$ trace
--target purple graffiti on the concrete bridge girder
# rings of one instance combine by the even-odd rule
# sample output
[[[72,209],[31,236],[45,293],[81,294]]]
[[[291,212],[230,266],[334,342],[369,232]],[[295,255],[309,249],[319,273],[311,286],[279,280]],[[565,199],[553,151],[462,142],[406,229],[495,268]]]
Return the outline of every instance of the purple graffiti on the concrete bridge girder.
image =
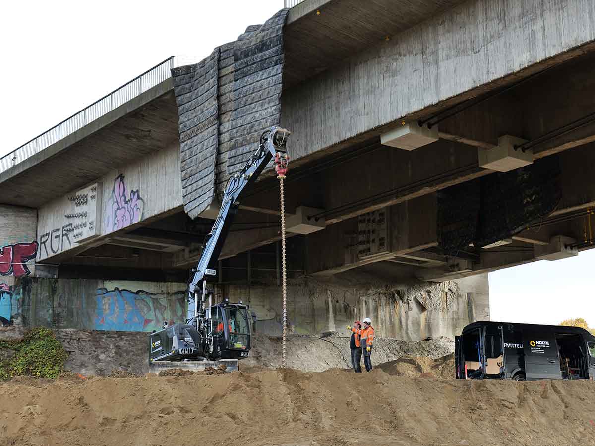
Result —
[[[139,222],[143,218],[144,209],[145,202],[140,197],[139,190],[131,190],[130,197],[127,197],[124,175],[118,175],[108,203],[108,230],[117,231]]]

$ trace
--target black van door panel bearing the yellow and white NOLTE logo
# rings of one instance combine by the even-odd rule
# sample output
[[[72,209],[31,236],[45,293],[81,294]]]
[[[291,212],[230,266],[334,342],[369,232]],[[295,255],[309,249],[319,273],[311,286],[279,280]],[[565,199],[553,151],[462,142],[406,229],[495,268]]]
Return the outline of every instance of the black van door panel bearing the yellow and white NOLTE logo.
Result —
[[[562,379],[558,344],[553,333],[523,331],[527,379]]]

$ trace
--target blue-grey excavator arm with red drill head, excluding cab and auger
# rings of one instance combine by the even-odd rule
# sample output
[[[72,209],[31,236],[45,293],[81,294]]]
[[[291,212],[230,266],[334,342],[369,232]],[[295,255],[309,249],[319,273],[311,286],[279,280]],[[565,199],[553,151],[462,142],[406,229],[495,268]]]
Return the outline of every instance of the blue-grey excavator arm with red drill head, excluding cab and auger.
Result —
[[[271,159],[275,159],[277,175],[284,175],[287,170],[286,142],[290,132],[280,127],[271,127],[261,135],[260,144],[241,171],[236,172],[227,181],[227,186],[221,201],[221,209],[211,232],[206,235],[201,259],[198,261],[194,275],[189,282],[188,292],[190,299],[198,303],[198,293],[201,290],[204,300],[205,276],[216,275],[217,260],[223,249],[223,244],[240,205],[243,191],[254,183]],[[196,315],[196,312],[195,312]]]

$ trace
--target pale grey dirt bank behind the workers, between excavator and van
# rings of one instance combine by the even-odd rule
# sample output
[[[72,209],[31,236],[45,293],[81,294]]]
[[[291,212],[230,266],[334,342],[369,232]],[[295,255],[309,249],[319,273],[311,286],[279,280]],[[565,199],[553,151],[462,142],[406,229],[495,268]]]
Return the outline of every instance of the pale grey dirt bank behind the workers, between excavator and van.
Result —
[[[372,362],[380,364],[403,356],[436,359],[454,350],[455,343],[449,338],[419,342],[380,338],[374,343]],[[246,371],[280,366],[281,338],[267,336],[255,336],[249,359],[242,360],[240,363],[240,369]],[[292,335],[287,338],[287,366],[302,372],[350,368],[349,338],[337,332],[327,332],[320,337]]]

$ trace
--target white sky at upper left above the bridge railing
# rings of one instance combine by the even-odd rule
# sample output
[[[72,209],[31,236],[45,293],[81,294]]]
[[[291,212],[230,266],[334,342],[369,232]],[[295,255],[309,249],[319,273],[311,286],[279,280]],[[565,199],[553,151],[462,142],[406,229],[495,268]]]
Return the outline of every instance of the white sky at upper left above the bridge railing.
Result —
[[[0,14],[0,155],[172,55],[202,59],[283,0],[10,1]]]

